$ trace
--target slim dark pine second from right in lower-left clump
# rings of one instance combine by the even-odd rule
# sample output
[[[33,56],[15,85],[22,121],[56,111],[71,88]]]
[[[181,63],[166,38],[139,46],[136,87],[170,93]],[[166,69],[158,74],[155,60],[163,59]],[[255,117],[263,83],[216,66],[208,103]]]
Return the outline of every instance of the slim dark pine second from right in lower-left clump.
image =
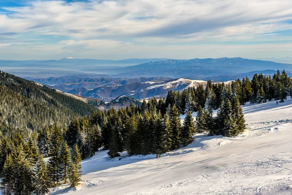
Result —
[[[61,153],[60,153],[60,161],[61,161],[61,166],[63,170],[63,180],[64,183],[68,183],[68,176],[70,174],[70,168],[72,166],[71,163],[71,152],[69,150],[67,141],[63,142],[62,147],[61,147]]]

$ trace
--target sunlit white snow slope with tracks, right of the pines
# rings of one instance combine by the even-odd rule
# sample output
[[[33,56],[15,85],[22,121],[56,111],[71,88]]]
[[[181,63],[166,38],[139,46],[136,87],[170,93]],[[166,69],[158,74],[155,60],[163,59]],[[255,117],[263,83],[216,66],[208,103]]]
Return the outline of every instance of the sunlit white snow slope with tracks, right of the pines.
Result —
[[[82,162],[77,191],[62,185],[51,194],[291,195],[292,99],[247,104],[243,111],[247,130],[237,137],[196,134],[192,144],[160,158],[109,159],[100,151]]]

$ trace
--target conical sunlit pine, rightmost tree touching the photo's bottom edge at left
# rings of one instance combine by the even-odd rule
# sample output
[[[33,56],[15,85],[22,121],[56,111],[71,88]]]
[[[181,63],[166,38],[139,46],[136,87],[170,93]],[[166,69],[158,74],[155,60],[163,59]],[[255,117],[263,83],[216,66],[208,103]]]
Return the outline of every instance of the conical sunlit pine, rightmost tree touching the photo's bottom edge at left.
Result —
[[[37,164],[37,176],[36,176],[36,195],[45,195],[50,191],[51,179],[49,177],[49,171],[43,159],[43,155],[40,154],[39,162]]]

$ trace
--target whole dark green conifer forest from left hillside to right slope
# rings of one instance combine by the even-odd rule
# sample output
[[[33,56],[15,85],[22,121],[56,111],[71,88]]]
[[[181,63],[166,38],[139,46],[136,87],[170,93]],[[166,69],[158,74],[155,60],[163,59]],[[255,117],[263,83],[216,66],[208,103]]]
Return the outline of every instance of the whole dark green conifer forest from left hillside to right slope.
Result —
[[[229,84],[209,80],[206,87],[169,91],[166,98],[145,100],[141,106],[131,104],[102,111],[3,72],[0,81],[1,91],[10,97],[1,98],[0,107],[4,113],[0,116],[1,189],[4,194],[15,195],[42,195],[63,183],[76,187],[81,179],[81,159],[93,156],[99,149],[108,149],[110,157],[125,150],[129,155],[152,153],[159,157],[191,143],[196,132],[236,136],[245,130],[241,105],[272,99],[283,102],[292,95],[292,79],[285,71],[278,71],[273,76],[259,74],[251,80],[237,79]],[[13,95],[31,104],[15,99],[20,106],[14,101],[7,106]],[[73,104],[75,101],[78,102]],[[34,108],[41,105],[59,115],[46,115],[50,122],[37,120],[43,108]],[[217,116],[213,116],[213,110],[218,110]],[[10,126],[17,120],[8,122],[7,112],[15,118],[21,114],[35,118],[34,128],[27,126],[28,119],[19,119],[21,124]],[[197,112],[196,120],[192,112]],[[186,114],[183,124],[181,114]],[[48,163],[43,157],[49,157]]]

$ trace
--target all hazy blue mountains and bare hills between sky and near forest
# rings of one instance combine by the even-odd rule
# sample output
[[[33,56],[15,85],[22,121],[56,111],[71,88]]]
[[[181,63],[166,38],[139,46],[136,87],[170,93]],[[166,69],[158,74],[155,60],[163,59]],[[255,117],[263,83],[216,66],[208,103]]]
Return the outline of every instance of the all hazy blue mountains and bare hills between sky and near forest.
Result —
[[[289,58],[286,58],[289,59]],[[0,60],[0,69],[75,95],[110,101],[120,96],[136,99],[164,97],[208,79],[215,82],[273,75],[292,64],[272,61],[219,59],[73,59]],[[197,84],[196,84],[197,83]]]

